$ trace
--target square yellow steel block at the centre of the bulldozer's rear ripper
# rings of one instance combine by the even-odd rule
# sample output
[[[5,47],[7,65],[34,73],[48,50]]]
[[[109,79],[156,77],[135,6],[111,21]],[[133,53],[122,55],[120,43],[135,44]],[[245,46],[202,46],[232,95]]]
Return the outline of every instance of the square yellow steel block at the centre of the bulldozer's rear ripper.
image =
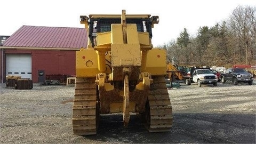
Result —
[[[141,66],[140,44],[111,44],[112,67]]]

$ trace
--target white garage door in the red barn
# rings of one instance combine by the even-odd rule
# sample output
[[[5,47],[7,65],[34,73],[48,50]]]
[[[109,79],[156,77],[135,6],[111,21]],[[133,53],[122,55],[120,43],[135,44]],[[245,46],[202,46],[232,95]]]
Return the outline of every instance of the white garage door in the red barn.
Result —
[[[31,54],[7,54],[6,75],[32,79],[31,70]]]

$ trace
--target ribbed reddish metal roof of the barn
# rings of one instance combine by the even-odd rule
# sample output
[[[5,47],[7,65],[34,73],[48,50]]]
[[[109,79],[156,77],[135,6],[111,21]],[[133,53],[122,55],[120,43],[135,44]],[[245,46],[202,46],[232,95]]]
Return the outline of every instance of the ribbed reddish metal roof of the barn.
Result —
[[[4,43],[6,47],[86,47],[85,28],[22,26]]]

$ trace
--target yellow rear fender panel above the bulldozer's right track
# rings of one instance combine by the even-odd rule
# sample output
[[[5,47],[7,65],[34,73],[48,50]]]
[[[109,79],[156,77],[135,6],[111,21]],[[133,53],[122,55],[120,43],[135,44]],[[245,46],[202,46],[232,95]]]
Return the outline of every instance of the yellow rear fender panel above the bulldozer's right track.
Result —
[[[151,75],[166,75],[166,52],[163,49],[148,51],[146,72]]]

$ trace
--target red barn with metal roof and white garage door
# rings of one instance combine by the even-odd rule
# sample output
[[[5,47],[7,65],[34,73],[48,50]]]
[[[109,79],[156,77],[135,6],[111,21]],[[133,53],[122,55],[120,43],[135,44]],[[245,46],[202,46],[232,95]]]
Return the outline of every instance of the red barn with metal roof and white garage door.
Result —
[[[0,46],[1,83],[7,75],[44,82],[75,75],[76,51],[87,45],[85,28],[22,26]]]

